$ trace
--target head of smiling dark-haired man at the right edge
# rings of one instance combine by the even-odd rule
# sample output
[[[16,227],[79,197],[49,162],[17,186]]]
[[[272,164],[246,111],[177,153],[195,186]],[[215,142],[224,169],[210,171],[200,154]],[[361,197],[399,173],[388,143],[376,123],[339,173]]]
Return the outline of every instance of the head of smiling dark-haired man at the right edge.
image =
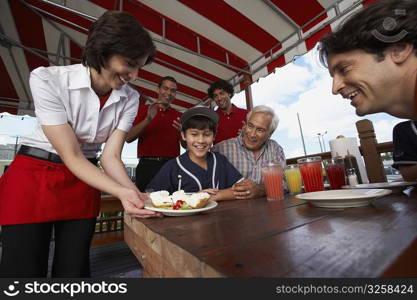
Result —
[[[320,41],[333,93],[356,114],[386,112],[417,120],[417,1],[380,0]]]

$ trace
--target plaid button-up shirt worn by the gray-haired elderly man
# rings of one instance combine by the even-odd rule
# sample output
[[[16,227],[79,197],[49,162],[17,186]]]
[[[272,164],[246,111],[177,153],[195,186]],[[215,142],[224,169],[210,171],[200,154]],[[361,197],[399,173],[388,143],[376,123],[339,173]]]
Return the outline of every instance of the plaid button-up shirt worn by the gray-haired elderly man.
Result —
[[[255,159],[253,152],[244,145],[242,134],[237,138],[214,145],[212,150],[226,156],[244,178],[251,179],[256,183],[263,183],[261,174],[263,163],[268,161],[282,162],[285,167],[284,151],[277,142],[271,139],[268,139],[262,146],[257,159]]]

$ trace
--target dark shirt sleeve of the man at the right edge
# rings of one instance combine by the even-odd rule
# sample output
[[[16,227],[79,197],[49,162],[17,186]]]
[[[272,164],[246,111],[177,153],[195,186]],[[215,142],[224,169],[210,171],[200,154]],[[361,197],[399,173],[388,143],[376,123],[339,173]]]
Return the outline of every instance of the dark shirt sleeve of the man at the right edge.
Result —
[[[393,129],[394,168],[417,165],[417,121],[405,121]]]

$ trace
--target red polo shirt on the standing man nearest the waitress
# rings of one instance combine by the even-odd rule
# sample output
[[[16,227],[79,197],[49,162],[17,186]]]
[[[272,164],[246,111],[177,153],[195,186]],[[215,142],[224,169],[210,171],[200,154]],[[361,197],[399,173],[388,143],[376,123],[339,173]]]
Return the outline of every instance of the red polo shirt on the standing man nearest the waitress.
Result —
[[[148,114],[149,105],[141,105],[133,125],[139,124]],[[158,108],[152,121],[138,139],[138,157],[176,157],[180,155],[181,133],[172,126],[181,113],[168,107]]]

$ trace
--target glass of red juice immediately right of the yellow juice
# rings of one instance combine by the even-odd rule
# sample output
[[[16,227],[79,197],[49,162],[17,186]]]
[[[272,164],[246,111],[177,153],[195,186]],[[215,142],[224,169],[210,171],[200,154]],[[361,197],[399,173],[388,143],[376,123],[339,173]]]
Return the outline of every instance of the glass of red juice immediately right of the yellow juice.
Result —
[[[317,192],[324,190],[323,173],[321,171],[321,157],[313,156],[297,159],[304,182],[304,191]]]

